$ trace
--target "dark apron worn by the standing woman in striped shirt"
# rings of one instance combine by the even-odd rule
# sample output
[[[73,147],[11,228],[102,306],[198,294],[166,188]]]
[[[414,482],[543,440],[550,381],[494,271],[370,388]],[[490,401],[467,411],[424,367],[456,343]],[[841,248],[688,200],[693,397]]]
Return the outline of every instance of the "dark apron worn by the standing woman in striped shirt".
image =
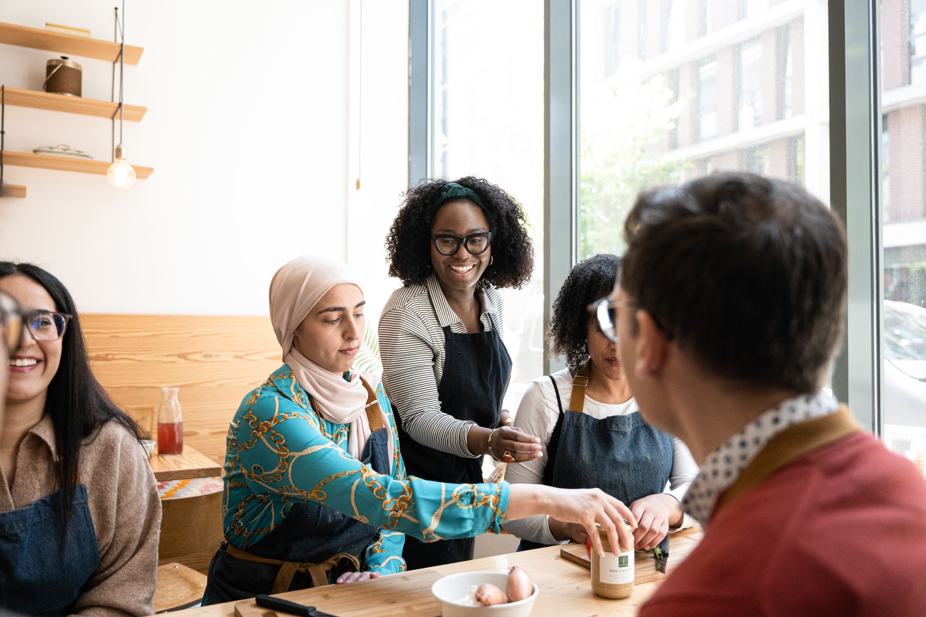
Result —
[[[474,334],[457,334],[444,327],[444,350],[444,375],[437,387],[441,411],[485,428],[498,426],[511,356],[494,322],[491,330]],[[408,475],[451,484],[482,482],[482,456],[470,459],[429,448],[411,438],[401,423],[399,439]],[[418,570],[471,560],[474,548],[472,537],[422,542],[406,536],[402,557],[408,570]]]

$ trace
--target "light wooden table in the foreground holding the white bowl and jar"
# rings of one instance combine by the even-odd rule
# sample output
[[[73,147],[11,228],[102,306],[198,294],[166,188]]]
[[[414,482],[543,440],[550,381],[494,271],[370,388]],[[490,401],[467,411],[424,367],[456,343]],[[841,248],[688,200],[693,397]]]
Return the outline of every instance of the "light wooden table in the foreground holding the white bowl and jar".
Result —
[[[696,541],[700,532],[688,532],[684,537],[686,540]],[[681,560],[670,559],[669,569],[678,565],[679,561]],[[560,547],[548,547],[461,561],[405,574],[391,574],[347,586],[290,591],[281,594],[281,597],[295,602],[316,604],[319,611],[330,611],[340,617],[437,617],[440,615],[440,609],[432,598],[431,585],[439,576],[474,570],[507,572],[513,565],[520,566],[531,574],[540,589],[532,617],[632,617],[662,584],[661,578],[641,583],[634,587],[630,598],[598,598],[592,593],[589,571],[562,559]],[[349,601],[345,601],[347,598],[344,592],[348,590],[350,598]],[[174,614],[178,617],[234,617],[235,604],[236,602],[226,602]]]

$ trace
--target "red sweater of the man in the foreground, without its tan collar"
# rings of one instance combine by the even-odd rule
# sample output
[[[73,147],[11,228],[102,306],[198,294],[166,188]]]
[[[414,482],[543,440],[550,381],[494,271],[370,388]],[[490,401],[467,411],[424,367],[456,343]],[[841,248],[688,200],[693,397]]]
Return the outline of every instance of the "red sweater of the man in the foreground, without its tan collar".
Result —
[[[640,617],[926,615],[926,481],[861,431],[715,512]]]

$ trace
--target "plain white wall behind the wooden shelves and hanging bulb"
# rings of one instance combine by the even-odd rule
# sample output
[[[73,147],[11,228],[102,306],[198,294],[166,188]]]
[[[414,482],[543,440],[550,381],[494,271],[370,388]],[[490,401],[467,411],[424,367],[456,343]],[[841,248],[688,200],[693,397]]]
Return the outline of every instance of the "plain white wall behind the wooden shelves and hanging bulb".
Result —
[[[0,21],[68,24],[111,40],[113,6],[7,2]],[[0,258],[44,265],[85,312],[263,315],[273,272],[315,251],[349,252],[367,278],[382,277],[375,249],[406,184],[407,2],[364,11],[364,86],[379,88],[364,93],[365,184],[378,187],[366,201],[353,189],[356,7],[352,20],[346,0],[130,0],[126,41],[144,55],[125,67],[125,102],[148,112],[125,123],[123,141],[129,161],[154,174],[117,191],[103,176],[7,166],[6,182],[29,196],[0,200]],[[0,81],[41,90],[52,57],[0,44]],[[108,100],[112,65],[74,59],[83,95]],[[108,161],[110,123],[6,106],[7,150],[59,142]],[[345,241],[348,207],[349,220],[364,222]],[[360,233],[376,236],[374,254],[359,253]]]

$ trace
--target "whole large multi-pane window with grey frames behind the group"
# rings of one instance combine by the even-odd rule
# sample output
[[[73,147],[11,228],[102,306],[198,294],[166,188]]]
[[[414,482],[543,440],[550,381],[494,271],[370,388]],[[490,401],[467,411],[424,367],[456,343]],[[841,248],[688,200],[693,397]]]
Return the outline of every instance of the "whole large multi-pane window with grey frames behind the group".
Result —
[[[545,50],[544,5],[557,18],[545,25]],[[922,468],[926,0],[881,0],[880,15],[845,3],[838,16],[828,15],[823,0],[579,0],[578,41],[569,38],[568,0],[430,6],[432,175],[493,179],[525,204],[537,239],[532,286],[507,295],[507,344],[517,357],[509,407],[542,370],[541,309],[552,301],[540,286],[544,179],[557,222],[548,239],[559,251],[548,264],[552,283],[575,258],[621,253],[632,200],[654,185],[749,170],[790,179],[829,203],[832,148],[832,207],[845,216],[854,281],[854,326],[832,386],[859,419],[870,414],[889,448]],[[845,39],[831,41],[833,33]],[[872,33],[877,65],[862,53],[873,54]],[[846,104],[831,110],[829,50],[840,43],[845,56],[832,60],[845,62],[845,73],[833,83],[845,78]],[[551,76],[545,107],[544,54]],[[881,96],[873,83],[882,84]],[[831,116],[838,119],[832,142]],[[871,163],[874,154],[880,165]],[[872,178],[880,191],[870,190]],[[578,247],[562,249],[572,241]],[[873,265],[882,268],[878,277]]]

